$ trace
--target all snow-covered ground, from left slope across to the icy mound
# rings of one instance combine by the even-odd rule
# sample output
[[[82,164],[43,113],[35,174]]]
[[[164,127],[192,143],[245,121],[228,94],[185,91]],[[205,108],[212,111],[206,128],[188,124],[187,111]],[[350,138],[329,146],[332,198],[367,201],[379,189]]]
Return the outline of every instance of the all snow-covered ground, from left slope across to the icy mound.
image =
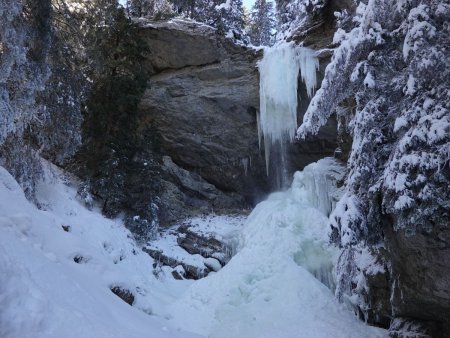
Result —
[[[326,216],[305,189],[323,168],[297,173],[243,229],[239,217],[190,220],[199,233],[239,238],[239,246],[217,273],[178,281],[169,268],[154,269],[119,220],[86,209],[59,170],[47,170],[54,175],[38,187],[39,210],[0,167],[0,337],[384,336],[313,276],[326,282],[334,254]],[[112,286],[130,290],[133,306]]]

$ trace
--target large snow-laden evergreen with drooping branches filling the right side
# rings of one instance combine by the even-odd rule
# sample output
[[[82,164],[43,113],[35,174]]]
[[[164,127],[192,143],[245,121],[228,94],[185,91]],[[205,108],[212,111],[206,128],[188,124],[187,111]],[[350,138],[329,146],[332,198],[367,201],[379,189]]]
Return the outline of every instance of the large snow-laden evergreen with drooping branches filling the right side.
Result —
[[[448,227],[450,6],[369,0],[337,15],[339,47],[299,134],[336,114],[352,140],[346,192],[331,215],[333,238],[346,248],[337,293],[373,321],[355,255],[382,244],[386,224],[409,234]]]

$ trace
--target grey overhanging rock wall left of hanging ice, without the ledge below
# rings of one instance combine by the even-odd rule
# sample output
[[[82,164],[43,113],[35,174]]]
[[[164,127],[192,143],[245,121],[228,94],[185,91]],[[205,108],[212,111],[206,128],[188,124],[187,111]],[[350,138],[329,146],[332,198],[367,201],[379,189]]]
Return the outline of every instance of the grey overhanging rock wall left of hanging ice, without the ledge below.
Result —
[[[153,70],[140,104],[142,128],[155,127],[161,151],[217,189],[247,201],[267,192],[256,128],[262,52],[183,20],[142,24],[142,36]],[[246,175],[242,162],[250,158]]]

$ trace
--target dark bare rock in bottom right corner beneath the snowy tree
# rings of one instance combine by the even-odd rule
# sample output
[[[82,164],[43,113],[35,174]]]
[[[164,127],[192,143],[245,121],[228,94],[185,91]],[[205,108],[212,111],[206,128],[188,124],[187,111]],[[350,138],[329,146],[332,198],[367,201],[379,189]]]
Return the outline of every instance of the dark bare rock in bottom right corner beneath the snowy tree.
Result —
[[[391,331],[413,323],[424,337],[450,334],[450,228],[436,225],[430,232],[408,234],[385,229],[390,258]],[[402,324],[403,323],[403,324]],[[401,325],[400,325],[401,324]],[[405,328],[406,325],[406,328]],[[420,329],[420,330],[419,330]],[[402,337],[396,333],[398,337]],[[392,335],[396,337],[396,335]]]

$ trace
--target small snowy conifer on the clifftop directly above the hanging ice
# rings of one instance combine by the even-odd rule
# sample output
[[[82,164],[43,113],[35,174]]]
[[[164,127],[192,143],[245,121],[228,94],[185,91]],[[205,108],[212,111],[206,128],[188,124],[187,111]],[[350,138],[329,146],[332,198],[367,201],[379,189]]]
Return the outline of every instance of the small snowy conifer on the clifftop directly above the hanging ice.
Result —
[[[250,41],[255,46],[271,46],[275,42],[273,2],[256,0],[250,12]]]

